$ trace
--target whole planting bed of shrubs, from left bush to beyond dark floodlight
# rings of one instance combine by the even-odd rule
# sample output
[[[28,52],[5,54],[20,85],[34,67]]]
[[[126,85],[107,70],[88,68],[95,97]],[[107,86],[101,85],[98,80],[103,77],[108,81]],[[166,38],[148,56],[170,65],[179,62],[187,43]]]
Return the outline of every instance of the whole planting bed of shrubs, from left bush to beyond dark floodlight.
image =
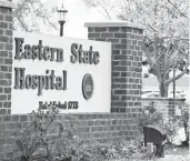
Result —
[[[181,108],[182,109],[182,108]],[[184,107],[183,107],[184,109]],[[182,111],[186,113],[184,111]],[[187,114],[187,113],[186,113]],[[32,122],[18,129],[16,134],[17,157],[8,161],[122,161],[156,160],[148,154],[143,145],[142,128],[158,123],[168,134],[166,153],[187,155],[188,148],[173,145],[173,139],[180,125],[189,123],[188,117],[164,119],[150,102],[137,119],[139,135],[134,140],[121,138],[117,143],[102,145],[98,142],[84,142],[78,134],[79,120],[72,115],[59,114],[56,107],[41,107],[32,112]],[[188,128],[186,133],[188,132]],[[187,137],[188,139],[188,137]]]

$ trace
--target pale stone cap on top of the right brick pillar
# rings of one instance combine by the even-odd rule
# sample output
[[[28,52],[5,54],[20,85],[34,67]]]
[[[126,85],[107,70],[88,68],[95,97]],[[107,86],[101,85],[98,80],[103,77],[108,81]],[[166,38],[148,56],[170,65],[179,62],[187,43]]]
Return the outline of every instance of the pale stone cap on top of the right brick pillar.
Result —
[[[132,23],[129,21],[104,21],[104,22],[86,22],[84,23],[86,28],[94,28],[94,27],[129,27],[129,28],[136,28],[136,29],[141,29],[143,30],[144,27],[138,24],[138,23]]]

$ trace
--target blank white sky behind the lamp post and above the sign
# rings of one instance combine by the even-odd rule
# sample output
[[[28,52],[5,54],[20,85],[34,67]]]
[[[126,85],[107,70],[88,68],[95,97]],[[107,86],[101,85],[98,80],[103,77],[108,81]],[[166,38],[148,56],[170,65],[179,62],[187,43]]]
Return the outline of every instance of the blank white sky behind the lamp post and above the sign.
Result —
[[[69,38],[80,38],[88,39],[87,28],[84,28],[84,22],[96,22],[96,21],[106,21],[107,19],[97,10],[89,9],[83,0],[42,0],[46,7],[57,6],[61,7],[62,2],[64,8],[68,10],[67,21],[64,24],[64,37]],[[113,18],[113,20],[116,20]],[[52,21],[54,24],[58,24],[58,14],[53,16]],[[108,20],[107,20],[108,21]],[[59,24],[57,26],[58,30],[52,30],[51,34],[59,34]],[[49,31],[44,31],[49,33]]]

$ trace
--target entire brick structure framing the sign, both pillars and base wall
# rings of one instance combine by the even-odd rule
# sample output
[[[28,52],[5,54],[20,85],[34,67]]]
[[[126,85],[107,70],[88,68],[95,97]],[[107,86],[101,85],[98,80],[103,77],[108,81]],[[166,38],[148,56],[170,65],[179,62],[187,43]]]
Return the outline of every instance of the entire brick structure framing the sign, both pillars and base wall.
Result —
[[[12,3],[0,1],[0,159],[12,154],[12,131],[31,121],[31,115],[11,115]],[[89,23],[90,24],[90,23]],[[92,23],[91,23],[92,24]],[[97,23],[98,24],[98,23]],[[89,27],[89,39],[112,42],[111,112],[78,115],[84,141],[111,143],[138,134],[134,117],[141,112],[142,29],[131,23]],[[118,113],[122,112],[122,113]],[[62,120],[66,114],[62,114]]]

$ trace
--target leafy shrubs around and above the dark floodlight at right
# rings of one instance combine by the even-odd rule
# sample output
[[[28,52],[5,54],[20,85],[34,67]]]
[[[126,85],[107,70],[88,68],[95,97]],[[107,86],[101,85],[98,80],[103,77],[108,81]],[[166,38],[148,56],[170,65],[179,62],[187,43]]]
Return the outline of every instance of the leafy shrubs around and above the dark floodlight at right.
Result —
[[[167,133],[167,143],[172,144],[180,128],[184,129],[186,144],[189,147],[189,108],[186,102],[178,104],[181,115],[163,115],[157,110],[157,103],[151,101],[149,105],[142,109],[142,114],[137,118],[138,127],[142,133],[144,125],[157,124]]]

